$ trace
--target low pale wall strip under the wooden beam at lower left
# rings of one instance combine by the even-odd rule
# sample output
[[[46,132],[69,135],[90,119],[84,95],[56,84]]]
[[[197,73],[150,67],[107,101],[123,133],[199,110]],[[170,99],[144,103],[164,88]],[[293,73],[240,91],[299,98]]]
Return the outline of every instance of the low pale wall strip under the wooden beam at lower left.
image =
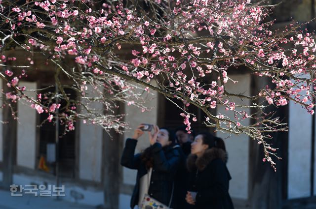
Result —
[[[13,175],[13,184],[16,185],[27,185],[27,184],[37,184],[37,185],[56,185],[56,182],[51,179],[45,179],[42,177],[28,176],[25,174],[14,174]],[[103,190],[95,189],[90,186],[79,186],[71,182],[60,182],[60,185],[65,185],[65,196],[60,197],[63,200],[70,202],[77,202],[79,204],[86,204],[91,206],[104,205],[104,194]],[[75,200],[71,195],[71,192],[75,191],[83,195],[83,199]],[[38,197],[40,198],[40,197]],[[52,197],[55,198],[55,197]]]

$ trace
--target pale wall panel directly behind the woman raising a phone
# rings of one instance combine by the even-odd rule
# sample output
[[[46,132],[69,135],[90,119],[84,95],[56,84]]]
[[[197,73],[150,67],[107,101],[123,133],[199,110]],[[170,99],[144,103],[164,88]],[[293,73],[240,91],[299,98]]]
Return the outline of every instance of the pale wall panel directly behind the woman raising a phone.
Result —
[[[158,106],[158,93],[152,92],[154,95],[149,96],[149,98],[153,98],[149,102],[146,103],[147,107],[157,107]],[[124,133],[124,139],[126,140],[129,137],[133,136],[134,129],[141,123],[149,123],[149,124],[157,124],[157,109],[154,108],[150,112],[142,113],[139,108],[134,106],[125,105],[125,121],[129,122],[130,130],[126,130]],[[124,144],[125,146],[125,144]],[[138,153],[147,147],[150,146],[148,133],[145,134],[138,139],[137,147],[135,153]],[[123,168],[123,182],[126,184],[135,184],[136,180],[136,170],[131,170],[128,168]]]

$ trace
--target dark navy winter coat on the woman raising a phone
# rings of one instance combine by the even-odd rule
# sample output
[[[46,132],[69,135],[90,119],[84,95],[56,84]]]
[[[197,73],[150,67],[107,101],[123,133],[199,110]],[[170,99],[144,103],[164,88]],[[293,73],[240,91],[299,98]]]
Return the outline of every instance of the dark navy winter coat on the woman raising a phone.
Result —
[[[130,207],[133,209],[138,205],[140,178],[147,174],[145,164],[141,160],[141,153],[135,154],[137,140],[127,139],[125,148],[121,157],[121,165],[137,170],[136,184],[130,201]],[[174,176],[180,160],[179,152],[172,147],[163,148],[159,143],[151,146],[152,156],[154,159],[153,173],[148,194],[162,204],[168,206]],[[174,196],[173,196],[174,197]],[[173,206],[173,200],[171,208]]]

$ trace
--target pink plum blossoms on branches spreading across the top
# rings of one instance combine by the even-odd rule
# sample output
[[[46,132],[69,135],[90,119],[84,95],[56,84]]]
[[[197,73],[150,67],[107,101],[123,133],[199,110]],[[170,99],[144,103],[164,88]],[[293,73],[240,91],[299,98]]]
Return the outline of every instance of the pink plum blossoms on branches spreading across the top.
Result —
[[[272,31],[274,23],[265,19],[273,8],[260,2],[155,0],[144,7],[89,0],[27,0],[26,4],[14,6],[2,0],[0,4],[6,16],[0,28],[7,36],[1,37],[7,40],[4,45],[14,43],[32,55],[45,55],[46,64],[59,68],[86,100],[72,103],[62,92],[58,94],[70,103],[67,114],[62,116],[69,130],[74,129],[76,118],[107,130],[125,126],[118,121],[121,116],[101,116],[97,111],[82,114],[75,107],[84,109],[86,103],[97,101],[113,113],[115,102],[123,101],[144,111],[147,108],[140,100],[142,96],[135,91],[141,87],[182,101],[181,117],[189,132],[191,123],[197,121],[197,116],[186,109],[191,104],[207,115],[207,126],[258,140],[264,145],[266,159],[274,165],[270,156],[274,149],[269,149],[265,142],[269,137],[264,132],[286,128],[265,113],[267,107],[294,101],[314,114],[314,34],[297,30],[295,22],[283,31]],[[4,49],[1,46],[1,53]],[[66,67],[66,59],[75,67]],[[2,63],[8,60],[21,61],[2,55]],[[32,68],[32,56],[27,61]],[[241,67],[270,82],[251,96],[228,92],[227,83],[238,82],[231,73]],[[23,98],[24,90],[18,84],[27,73],[22,74],[5,71],[7,86],[15,90],[6,93],[11,101]],[[94,98],[89,97],[91,91]],[[239,98],[250,100],[251,108],[260,109],[262,116],[247,112],[249,107],[239,104]],[[39,98],[27,99],[39,114],[49,113],[48,121],[57,114],[58,104],[44,105]],[[226,112],[214,114],[221,107]],[[247,126],[245,119],[259,120]]]

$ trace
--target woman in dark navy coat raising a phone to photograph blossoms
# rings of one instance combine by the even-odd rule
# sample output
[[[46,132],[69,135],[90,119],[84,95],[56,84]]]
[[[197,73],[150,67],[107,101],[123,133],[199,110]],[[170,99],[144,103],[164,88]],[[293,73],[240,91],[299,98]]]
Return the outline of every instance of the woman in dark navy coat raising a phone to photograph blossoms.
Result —
[[[137,140],[144,134],[144,127],[138,126],[132,138],[128,138],[121,157],[121,165],[137,170],[136,185],[130,201],[133,209],[136,205],[141,208],[145,194],[160,203],[173,206],[173,180],[180,156],[172,148],[175,142],[174,134],[166,128],[153,126],[149,133],[150,147],[135,154]],[[147,127],[146,127],[147,128]]]

